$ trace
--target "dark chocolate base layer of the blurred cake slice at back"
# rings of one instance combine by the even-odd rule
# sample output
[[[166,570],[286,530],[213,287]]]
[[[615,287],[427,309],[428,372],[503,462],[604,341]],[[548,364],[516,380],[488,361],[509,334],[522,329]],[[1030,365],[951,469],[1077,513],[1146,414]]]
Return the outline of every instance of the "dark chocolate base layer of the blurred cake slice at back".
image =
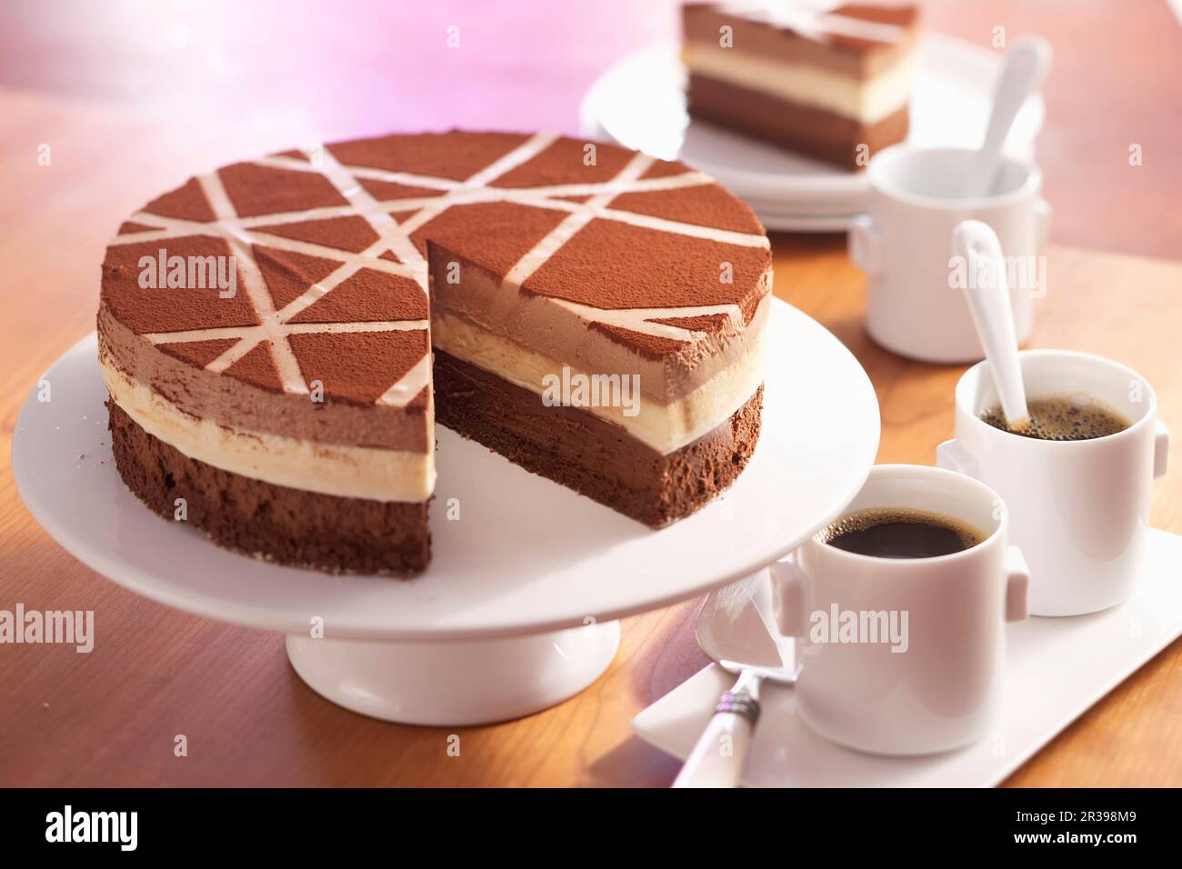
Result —
[[[688,108],[694,117],[846,169],[864,168],[858,163],[859,144],[869,147],[869,158],[905,140],[908,129],[907,106],[877,123],[860,124],[693,72]]]

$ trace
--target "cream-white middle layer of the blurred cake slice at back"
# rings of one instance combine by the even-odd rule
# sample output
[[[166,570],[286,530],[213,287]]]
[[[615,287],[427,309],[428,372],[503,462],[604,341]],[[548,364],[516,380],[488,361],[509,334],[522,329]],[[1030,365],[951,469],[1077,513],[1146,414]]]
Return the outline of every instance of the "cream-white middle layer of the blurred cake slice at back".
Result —
[[[785,64],[735,48],[694,43],[682,46],[682,60],[691,72],[873,124],[894,115],[911,98],[915,52],[864,82],[817,66]]]

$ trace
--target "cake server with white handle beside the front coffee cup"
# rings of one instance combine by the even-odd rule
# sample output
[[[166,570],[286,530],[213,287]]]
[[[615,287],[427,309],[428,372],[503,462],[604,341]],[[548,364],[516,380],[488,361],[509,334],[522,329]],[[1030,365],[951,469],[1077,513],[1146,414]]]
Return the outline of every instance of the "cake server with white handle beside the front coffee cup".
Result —
[[[759,720],[759,689],[765,680],[792,685],[797,677],[791,640],[767,621],[771,579],[752,573],[712,591],[697,614],[694,634],[702,651],[739,676],[719,698],[714,716],[677,773],[674,787],[736,787]]]

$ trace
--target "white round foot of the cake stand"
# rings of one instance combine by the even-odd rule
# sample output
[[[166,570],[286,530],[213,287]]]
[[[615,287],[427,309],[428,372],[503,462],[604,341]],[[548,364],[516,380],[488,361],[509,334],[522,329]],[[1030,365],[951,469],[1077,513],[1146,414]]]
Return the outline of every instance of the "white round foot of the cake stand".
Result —
[[[363,715],[435,726],[540,712],[591,685],[618,648],[619,622],[449,642],[287,635],[287,659],[317,694]]]

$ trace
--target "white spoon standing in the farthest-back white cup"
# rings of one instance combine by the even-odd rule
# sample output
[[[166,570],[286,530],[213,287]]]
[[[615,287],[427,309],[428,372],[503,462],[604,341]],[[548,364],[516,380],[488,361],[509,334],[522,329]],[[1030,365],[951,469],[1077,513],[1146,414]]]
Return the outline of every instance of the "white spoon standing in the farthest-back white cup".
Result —
[[[1026,98],[1037,91],[1051,69],[1051,44],[1041,37],[1017,37],[1006,52],[1005,66],[993,93],[993,111],[985,131],[985,143],[969,168],[961,195],[965,199],[987,196],[1001,168],[1001,147]]]

